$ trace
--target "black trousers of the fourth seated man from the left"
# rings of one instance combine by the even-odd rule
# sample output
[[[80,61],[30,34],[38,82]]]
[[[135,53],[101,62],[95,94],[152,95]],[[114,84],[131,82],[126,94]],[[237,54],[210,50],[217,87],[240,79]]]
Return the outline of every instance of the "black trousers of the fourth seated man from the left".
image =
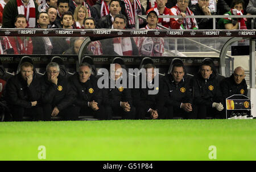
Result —
[[[130,111],[123,110],[121,106],[105,106],[105,114],[108,119],[113,119],[113,116],[121,116],[122,119],[135,119],[135,113],[136,110],[134,106],[131,106]]]

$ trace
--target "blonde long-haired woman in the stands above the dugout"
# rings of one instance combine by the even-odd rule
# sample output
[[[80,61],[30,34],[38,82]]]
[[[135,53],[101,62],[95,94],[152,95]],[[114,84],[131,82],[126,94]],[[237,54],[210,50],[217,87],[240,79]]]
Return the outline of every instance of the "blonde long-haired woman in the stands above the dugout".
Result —
[[[84,29],[85,18],[88,18],[88,9],[85,6],[77,6],[74,13],[74,27]]]

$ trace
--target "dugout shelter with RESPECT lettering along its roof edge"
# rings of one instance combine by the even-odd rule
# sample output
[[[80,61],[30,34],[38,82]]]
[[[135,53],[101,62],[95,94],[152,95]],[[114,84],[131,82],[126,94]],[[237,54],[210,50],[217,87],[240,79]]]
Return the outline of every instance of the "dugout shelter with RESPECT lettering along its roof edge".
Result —
[[[180,58],[187,68],[189,74],[195,74],[204,58],[213,59],[217,72],[222,76],[230,76],[236,67],[236,57],[230,53],[230,45],[249,46],[249,55],[244,61],[249,61],[246,67],[247,84],[249,85],[248,96],[251,98],[251,104],[255,104],[255,32],[256,30],[144,30],[144,29],[0,29],[0,38],[2,48],[5,48],[3,42],[5,37],[33,37],[43,38],[66,38],[72,44],[72,38],[84,38],[78,54],[40,54],[33,51],[31,54],[11,54],[2,51],[0,59],[3,67],[9,73],[15,73],[20,59],[27,55],[31,57],[38,72],[44,73],[44,68],[52,57],[60,57],[64,61],[68,72],[74,73],[85,56],[93,59],[94,66],[97,68],[108,68],[115,57],[122,57],[127,68],[139,68],[144,57],[149,55],[119,55],[106,54],[101,55],[88,53],[88,45],[94,41],[107,42],[111,45],[114,38],[162,38],[164,41],[164,51],[150,58],[154,61],[156,67],[160,68],[160,75],[165,75],[174,58]],[[63,39],[62,39],[63,40]],[[38,41],[40,43],[40,41]],[[33,44],[34,45],[34,44]],[[36,45],[36,44],[35,44]],[[61,45],[61,44],[60,44]],[[103,45],[105,48],[105,45]],[[69,47],[71,48],[71,47]],[[239,51],[238,51],[239,54]],[[243,62],[243,57],[240,57]],[[237,63],[239,64],[239,63]],[[251,113],[255,116],[255,110]]]

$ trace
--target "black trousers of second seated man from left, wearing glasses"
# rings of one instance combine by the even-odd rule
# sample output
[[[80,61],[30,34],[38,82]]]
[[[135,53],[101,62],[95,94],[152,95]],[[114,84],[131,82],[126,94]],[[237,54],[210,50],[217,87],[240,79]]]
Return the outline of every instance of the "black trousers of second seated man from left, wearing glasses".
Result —
[[[44,104],[42,105],[43,108],[43,114],[44,114],[44,121],[51,121],[51,114],[52,110],[55,108],[55,105],[51,104]],[[79,116],[79,109],[76,108],[76,106],[68,106],[67,108],[60,110],[59,114],[57,114],[57,117],[62,117],[64,121],[76,121],[78,120]]]

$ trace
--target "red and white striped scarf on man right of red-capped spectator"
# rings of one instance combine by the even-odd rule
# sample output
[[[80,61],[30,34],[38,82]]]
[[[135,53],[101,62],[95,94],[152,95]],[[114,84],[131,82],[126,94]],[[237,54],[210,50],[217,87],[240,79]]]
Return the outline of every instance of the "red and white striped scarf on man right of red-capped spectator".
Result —
[[[180,8],[177,5],[172,7],[171,11],[173,14],[176,14],[176,15],[179,15],[181,12]],[[188,7],[186,9],[186,15],[193,15],[193,12],[191,10],[189,10]],[[175,20],[178,20],[178,18]],[[185,27],[184,27],[184,24],[185,24]],[[180,29],[193,29],[193,28],[198,28],[195,18],[183,19],[183,24],[180,25]]]

